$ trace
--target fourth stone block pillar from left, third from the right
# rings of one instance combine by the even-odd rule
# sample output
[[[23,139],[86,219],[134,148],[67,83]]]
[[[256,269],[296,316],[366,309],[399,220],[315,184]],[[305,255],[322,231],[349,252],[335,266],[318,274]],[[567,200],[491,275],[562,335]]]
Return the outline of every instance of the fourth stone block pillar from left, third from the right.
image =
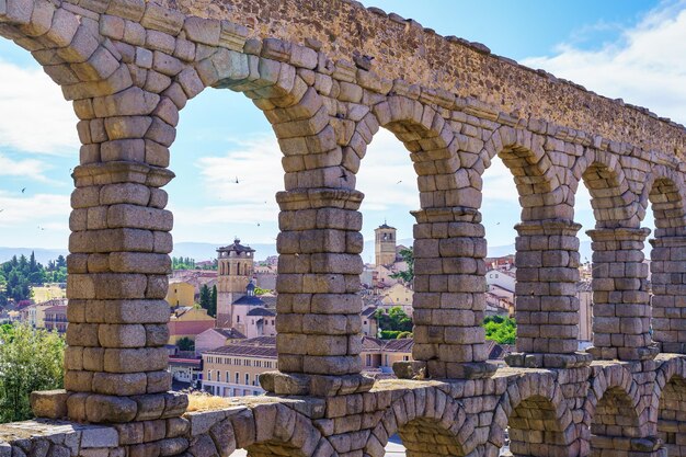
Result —
[[[579,350],[579,239],[581,225],[564,219],[515,226],[516,353],[510,366],[570,368],[591,363]]]

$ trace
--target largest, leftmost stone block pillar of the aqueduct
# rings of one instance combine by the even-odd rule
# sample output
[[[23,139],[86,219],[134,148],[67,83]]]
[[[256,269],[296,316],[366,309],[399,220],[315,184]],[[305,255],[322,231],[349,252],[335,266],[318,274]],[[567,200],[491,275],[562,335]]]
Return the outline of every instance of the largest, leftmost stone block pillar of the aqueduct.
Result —
[[[68,416],[113,423],[180,415],[187,399],[167,393],[172,215],[159,188],[173,173],[142,162],[91,161],[83,148],[81,161],[67,259]]]

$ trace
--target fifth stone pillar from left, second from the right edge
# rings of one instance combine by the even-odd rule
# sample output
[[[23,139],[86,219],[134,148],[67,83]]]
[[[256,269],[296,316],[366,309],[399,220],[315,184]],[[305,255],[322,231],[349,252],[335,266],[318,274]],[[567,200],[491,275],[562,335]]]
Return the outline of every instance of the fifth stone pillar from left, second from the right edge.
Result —
[[[643,361],[658,354],[650,336],[647,228],[588,230],[593,240],[593,347],[597,359]]]

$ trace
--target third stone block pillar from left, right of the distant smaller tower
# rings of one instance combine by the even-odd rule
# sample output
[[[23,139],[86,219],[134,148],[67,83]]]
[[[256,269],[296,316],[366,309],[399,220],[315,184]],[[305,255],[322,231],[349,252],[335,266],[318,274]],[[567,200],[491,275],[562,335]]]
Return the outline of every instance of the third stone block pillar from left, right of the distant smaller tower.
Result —
[[[481,327],[487,252],[481,215],[467,208],[430,208],[413,215],[412,357],[425,364],[431,378],[489,377],[495,365],[485,362],[489,354]],[[414,368],[411,372],[416,363]]]

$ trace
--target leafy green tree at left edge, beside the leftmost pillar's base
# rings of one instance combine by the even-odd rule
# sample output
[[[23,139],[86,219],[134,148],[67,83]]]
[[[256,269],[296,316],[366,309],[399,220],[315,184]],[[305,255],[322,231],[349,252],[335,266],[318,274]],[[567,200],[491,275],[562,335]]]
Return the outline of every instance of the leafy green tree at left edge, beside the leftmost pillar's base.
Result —
[[[28,396],[62,387],[65,341],[26,324],[0,327],[0,422],[33,418]]]

